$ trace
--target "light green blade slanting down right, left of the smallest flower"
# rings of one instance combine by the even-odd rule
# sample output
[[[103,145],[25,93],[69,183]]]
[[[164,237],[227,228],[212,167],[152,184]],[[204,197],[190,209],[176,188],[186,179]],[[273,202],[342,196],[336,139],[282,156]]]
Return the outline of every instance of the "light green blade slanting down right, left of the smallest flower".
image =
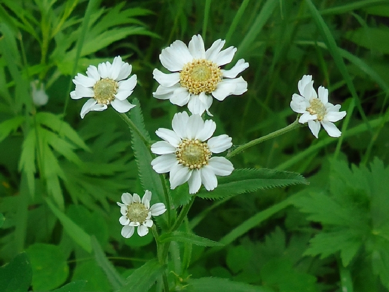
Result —
[[[79,246],[81,246],[88,253],[92,252],[92,244],[90,236],[81,229],[76,223],[74,223],[69,217],[67,217],[64,213],[57,209],[54,204],[46,199],[46,202],[49,208],[52,210],[54,215],[61,221],[65,231],[68,235],[76,242]]]

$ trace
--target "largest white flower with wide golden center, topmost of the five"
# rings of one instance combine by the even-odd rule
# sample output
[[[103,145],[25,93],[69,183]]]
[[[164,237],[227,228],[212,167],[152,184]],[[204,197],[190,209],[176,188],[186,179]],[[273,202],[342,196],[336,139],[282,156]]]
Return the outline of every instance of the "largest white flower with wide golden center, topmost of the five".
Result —
[[[159,59],[169,71],[165,74],[154,69],[154,79],[159,87],[153,96],[159,99],[170,99],[172,104],[184,106],[193,114],[202,114],[205,110],[209,115],[212,96],[219,101],[231,94],[240,95],[247,91],[247,82],[235,78],[248,68],[244,59],[238,60],[230,70],[220,66],[231,62],[236,48],[229,47],[220,51],[225,40],[216,40],[211,48],[205,51],[200,35],[193,36],[187,47],[182,41],[176,40],[170,47],[162,50]],[[211,95],[212,94],[212,95]]]

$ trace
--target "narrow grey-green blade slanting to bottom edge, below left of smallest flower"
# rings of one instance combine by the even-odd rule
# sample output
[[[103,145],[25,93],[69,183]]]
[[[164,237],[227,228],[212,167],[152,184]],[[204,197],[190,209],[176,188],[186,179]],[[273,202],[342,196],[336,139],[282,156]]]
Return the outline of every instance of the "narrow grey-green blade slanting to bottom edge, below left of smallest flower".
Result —
[[[94,251],[94,256],[97,264],[103,269],[106,273],[106,276],[111,283],[113,289],[116,291],[120,289],[124,285],[124,279],[122,276],[116,271],[115,267],[112,263],[106,258],[106,254],[101,248],[99,242],[96,237],[91,237],[92,248]]]

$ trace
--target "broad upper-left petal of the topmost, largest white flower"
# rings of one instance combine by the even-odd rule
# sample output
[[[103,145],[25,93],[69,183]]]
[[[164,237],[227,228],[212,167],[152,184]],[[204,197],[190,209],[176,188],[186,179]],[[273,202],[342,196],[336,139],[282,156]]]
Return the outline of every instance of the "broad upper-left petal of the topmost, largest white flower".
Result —
[[[175,72],[181,71],[184,64],[191,62],[193,57],[188,50],[188,47],[180,40],[174,41],[170,47],[162,50],[159,55],[163,67],[167,70]]]

